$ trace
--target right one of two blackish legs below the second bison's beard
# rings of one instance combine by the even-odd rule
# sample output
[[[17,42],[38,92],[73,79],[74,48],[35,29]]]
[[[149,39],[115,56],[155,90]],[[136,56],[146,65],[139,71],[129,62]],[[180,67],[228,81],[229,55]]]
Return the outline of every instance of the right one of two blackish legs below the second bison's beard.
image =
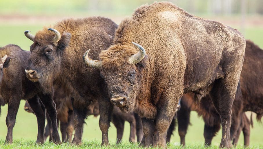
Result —
[[[57,128],[57,110],[56,104],[53,101],[53,92],[48,94],[40,93],[39,97],[46,107],[47,113],[52,124],[52,139],[55,144],[60,144],[59,132]]]

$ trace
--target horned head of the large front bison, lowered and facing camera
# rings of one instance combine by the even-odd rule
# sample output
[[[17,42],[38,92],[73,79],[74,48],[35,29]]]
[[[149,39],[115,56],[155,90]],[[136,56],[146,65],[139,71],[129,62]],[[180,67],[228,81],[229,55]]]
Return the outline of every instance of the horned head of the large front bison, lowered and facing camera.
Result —
[[[88,58],[89,50],[83,56],[88,66],[100,69],[110,94],[110,101],[124,112],[134,110],[146,65],[144,48],[137,43],[133,44],[139,48],[138,53],[132,44],[116,44],[101,51],[101,61]]]

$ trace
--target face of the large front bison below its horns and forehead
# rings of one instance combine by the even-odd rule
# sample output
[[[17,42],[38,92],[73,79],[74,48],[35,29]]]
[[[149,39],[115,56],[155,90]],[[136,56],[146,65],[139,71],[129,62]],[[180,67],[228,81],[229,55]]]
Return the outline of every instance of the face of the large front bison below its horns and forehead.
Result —
[[[102,67],[101,76],[107,84],[111,103],[124,112],[133,111],[141,80],[136,66],[123,63],[120,68]]]

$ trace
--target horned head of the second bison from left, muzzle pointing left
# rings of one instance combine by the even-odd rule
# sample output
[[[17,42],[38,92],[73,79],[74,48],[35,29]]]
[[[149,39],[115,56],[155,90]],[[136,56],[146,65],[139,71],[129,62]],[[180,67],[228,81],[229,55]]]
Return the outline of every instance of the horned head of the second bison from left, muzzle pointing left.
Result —
[[[30,46],[26,76],[32,82],[39,82],[45,90],[52,88],[55,77],[60,73],[61,55],[70,42],[70,33],[60,35],[53,28],[44,28],[34,36],[25,31],[26,37],[34,41]],[[47,92],[45,91],[44,92]]]

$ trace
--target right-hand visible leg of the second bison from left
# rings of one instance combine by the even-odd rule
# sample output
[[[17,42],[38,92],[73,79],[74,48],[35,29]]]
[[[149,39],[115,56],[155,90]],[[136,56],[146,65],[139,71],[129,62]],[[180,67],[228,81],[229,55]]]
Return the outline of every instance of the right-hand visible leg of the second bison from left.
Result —
[[[109,145],[108,129],[110,127],[110,121],[112,117],[113,105],[107,98],[98,100],[99,102],[99,128],[102,133],[101,145]]]

